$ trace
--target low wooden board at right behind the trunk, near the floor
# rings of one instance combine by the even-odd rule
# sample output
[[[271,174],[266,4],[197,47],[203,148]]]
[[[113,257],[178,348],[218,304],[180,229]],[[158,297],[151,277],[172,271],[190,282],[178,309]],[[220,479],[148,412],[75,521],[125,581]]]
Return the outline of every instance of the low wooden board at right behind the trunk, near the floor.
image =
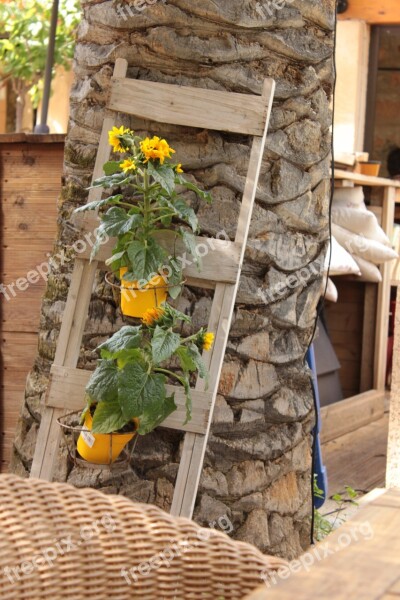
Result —
[[[321,442],[329,442],[379,420],[384,414],[384,400],[384,392],[370,390],[322,407]]]

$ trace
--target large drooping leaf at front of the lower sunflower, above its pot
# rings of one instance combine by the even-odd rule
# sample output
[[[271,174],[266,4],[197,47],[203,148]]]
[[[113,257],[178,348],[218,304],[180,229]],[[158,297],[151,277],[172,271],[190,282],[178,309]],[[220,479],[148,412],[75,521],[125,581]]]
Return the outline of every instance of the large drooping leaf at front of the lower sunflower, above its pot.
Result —
[[[118,399],[127,421],[143,412],[142,393],[149,373],[140,363],[127,363],[118,375]]]

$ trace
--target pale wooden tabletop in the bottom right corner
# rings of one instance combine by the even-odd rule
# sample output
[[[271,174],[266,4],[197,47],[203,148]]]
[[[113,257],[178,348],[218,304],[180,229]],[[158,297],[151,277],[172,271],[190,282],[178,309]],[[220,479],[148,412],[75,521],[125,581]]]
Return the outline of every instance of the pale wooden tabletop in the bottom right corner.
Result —
[[[399,531],[400,509],[373,501],[300,557],[296,571],[288,570],[285,578],[276,576],[246,599],[383,598],[399,578]]]

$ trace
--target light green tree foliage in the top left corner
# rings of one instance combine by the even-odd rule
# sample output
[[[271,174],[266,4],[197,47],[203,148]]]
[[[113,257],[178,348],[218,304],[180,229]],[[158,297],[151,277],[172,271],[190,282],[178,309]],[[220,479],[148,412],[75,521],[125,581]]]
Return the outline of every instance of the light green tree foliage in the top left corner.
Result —
[[[12,82],[20,102],[29,93],[37,108],[43,89],[43,76],[49,44],[52,0],[19,0],[0,4],[0,84]],[[54,68],[69,69],[79,22],[78,0],[61,0],[59,6]]]

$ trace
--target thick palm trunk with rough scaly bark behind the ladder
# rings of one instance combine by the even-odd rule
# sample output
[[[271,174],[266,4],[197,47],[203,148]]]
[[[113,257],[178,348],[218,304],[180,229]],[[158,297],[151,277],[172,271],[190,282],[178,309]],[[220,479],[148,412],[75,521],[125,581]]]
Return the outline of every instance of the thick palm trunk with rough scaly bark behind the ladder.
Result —
[[[110,1],[83,5],[58,248],[71,241],[66,221],[86,199],[117,57],[128,59],[131,77],[148,80],[242,93],[259,92],[264,77],[276,80],[195,519],[209,523],[227,515],[237,539],[292,558],[310,537],[314,415],[304,355],[314,328],[328,238],[334,0],[279,1],[278,8],[271,2],[257,8],[254,0],[160,0],[141,13],[131,8],[132,16],[127,9],[121,16],[121,8]],[[185,170],[213,194],[212,207],[198,207],[203,231],[234,233],[249,156],[247,138],[160,128],[134,119],[119,122],[136,130],[161,130]],[[68,267],[55,270],[43,301],[39,356],[28,379],[15,440],[13,470],[21,474],[27,474],[32,461],[69,279]],[[269,293],[275,288],[278,294]],[[195,289],[181,299],[181,308],[199,325],[206,322],[210,305],[209,294]],[[121,324],[112,294],[99,278],[79,367],[94,366],[93,348]],[[133,472],[113,478],[100,471],[71,470],[63,449],[57,478],[168,509],[181,439],[171,431],[140,439]]]

